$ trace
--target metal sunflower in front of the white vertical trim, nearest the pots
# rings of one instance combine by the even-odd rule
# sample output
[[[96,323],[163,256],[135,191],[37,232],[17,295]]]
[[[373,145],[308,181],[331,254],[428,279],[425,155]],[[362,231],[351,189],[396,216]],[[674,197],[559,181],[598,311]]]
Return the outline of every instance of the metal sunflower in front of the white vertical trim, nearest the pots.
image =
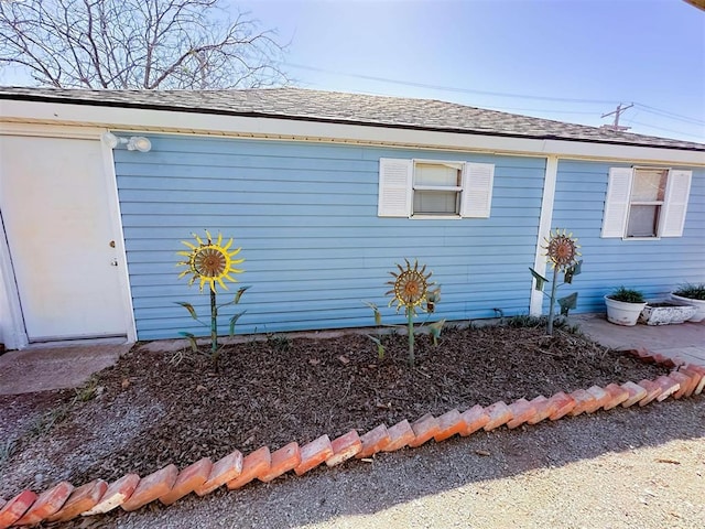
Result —
[[[556,300],[557,288],[563,284],[573,282],[573,277],[581,273],[583,261],[577,258],[581,256],[577,239],[573,238],[573,234],[568,234],[565,229],[561,231],[556,228],[555,233],[551,231],[549,238],[545,239],[546,259],[553,268],[553,280],[551,281],[551,295],[549,307],[547,334],[553,335],[553,319],[555,313],[555,302],[561,305],[561,314],[567,316],[571,309],[577,305],[577,292]],[[533,268],[529,268],[535,279],[535,289],[543,292],[543,285],[549,282],[546,278],[536,272]],[[563,272],[563,283],[557,283],[558,273]],[[545,292],[544,292],[545,294]],[[547,295],[547,294],[546,294]]]

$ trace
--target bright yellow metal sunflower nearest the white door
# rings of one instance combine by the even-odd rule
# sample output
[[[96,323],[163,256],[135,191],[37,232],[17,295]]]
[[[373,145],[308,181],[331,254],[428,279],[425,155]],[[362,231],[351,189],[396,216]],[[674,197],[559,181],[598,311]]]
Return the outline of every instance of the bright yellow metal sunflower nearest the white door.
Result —
[[[235,279],[232,274],[242,273],[245,270],[240,270],[235,267],[245,262],[245,259],[235,259],[235,257],[240,253],[241,248],[230,250],[230,248],[232,247],[232,238],[230,238],[230,240],[228,240],[224,245],[221,234],[218,234],[218,238],[215,239],[215,241],[208,230],[206,230],[205,239],[196,234],[193,234],[193,236],[196,239],[196,244],[194,245],[193,242],[189,242],[187,240],[182,240],[182,244],[188,248],[188,251],[177,252],[180,256],[185,257],[186,260],[177,262],[176,266],[187,267],[186,270],[183,270],[178,274],[178,279],[191,276],[191,278],[188,279],[188,287],[191,287],[195,282],[198,282],[202,292],[203,288],[208,284],[208,291],[210,293],[210,358],[217,369],[218,310],[224,306],[238,304],[240,302],[242,293],[247,289],[249,289],[249,287],[240,288],[235,294],[235,299],[232,301],[218,305],[216,302],[216,284],[221,287],[224,290],[228,290],[225,281],[230,281],[234,283],[237,282],[237,279]],[[184,306],[188,311],[191,316],[198,323],[204,326],[208,326],[207,323],[198,319],[198,315],[196,314],[196,311],[191,303],[178,302],[178,304]],[[245,311],[236,314],[230,319],[230,336],[235,334],[235,324],[242,314],[245,314]],[[194,350],[198,350],[196,337],[193,334],[180,334],[188,338]]]

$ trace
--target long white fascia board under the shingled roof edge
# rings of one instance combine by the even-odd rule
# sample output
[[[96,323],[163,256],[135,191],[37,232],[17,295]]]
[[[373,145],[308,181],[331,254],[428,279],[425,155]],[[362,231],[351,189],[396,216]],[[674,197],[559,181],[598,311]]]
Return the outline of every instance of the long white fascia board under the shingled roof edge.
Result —
[[[11,99],[0,101],[0,120],[6,122],[72,125],[109,129],[124,128],[153,132],[296,141],[347,142],[529,156],[557,155],[573,159],[705,165],[705,152],[703,151],[610,144],[585,140],[533,139],[330,123],[285,118],[226,116]]]

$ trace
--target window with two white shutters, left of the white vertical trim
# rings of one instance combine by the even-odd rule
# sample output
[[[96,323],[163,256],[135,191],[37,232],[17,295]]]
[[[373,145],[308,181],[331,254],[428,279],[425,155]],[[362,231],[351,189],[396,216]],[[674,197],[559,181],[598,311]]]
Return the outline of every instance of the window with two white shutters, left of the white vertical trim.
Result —
[[[495,166],[432,160],[380,160],[378,215],[489,217]]]

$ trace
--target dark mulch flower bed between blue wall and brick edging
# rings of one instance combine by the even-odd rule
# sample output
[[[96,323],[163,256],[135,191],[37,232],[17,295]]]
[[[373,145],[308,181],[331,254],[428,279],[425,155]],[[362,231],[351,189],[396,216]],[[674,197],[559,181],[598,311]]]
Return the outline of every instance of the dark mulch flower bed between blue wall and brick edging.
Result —
[[[448,328],[437,346],[420,336],[413,369],[405,336],[382,342],[379,359],[361,334],[274,335],[227,346],[217,373],[206,355],[137,345],[85,388],[53,392],[51,407],[47,393],[0,397],[0,433],[14,441],[0,458],[0,490],[147,475],[234,449],[275,450],[427,412],[668,373],[565,330],[546,336],[543,326]]]

